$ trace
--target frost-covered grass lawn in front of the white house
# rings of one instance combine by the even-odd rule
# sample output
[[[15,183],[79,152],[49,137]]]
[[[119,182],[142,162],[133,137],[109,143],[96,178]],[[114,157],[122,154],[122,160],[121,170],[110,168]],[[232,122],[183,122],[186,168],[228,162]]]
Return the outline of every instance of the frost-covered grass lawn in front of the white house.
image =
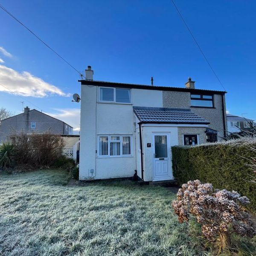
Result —
[[[175,194],[133,182],[70,187],[67,173],[0,174],[0,255],[205,255],[177,223]]]

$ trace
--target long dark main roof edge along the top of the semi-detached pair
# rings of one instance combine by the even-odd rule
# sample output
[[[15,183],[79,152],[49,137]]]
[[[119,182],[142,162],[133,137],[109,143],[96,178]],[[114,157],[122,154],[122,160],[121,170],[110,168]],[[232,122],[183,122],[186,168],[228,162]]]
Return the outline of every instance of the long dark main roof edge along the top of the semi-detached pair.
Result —
[[[126,84],[107,81],[95,81],[95,80],[78,80],[81,84],[96,85],[103,87],[119,87],[119,88],[136,88],[146,90],[163,90],[163,91],[176,91],[176,92],[190,92],[190,93],[205,93],[205,94],[225,94],[226,91],[219,90],[203,90],[203,89],[190,89],[184,87],[169,87],[169,86],[151,86],[145,84]]]

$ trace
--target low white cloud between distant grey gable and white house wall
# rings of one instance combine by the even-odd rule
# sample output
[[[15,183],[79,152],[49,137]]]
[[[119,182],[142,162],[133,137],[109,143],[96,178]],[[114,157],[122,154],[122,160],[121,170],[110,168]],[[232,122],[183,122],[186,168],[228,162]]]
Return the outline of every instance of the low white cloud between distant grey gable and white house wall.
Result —
[[[78,134],[80,131],[80,108],[55,109],[55,111],[57,111],[57,113],[49,113],[49,115],[71,125],[73,131]]]

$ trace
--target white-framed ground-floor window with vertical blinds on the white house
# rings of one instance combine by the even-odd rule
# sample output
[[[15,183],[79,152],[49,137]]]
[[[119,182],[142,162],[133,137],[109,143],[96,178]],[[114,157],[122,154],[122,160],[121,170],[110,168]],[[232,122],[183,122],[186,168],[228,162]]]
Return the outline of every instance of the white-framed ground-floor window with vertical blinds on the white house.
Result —
[[[130,156],[131,136],[99,136],[99,156]]]

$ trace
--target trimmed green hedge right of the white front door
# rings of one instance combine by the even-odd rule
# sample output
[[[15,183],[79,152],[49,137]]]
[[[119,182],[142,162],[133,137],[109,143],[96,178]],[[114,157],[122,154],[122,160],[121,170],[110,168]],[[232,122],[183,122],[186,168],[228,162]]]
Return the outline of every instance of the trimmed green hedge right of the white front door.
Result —
[[[201,180],[215,188],[235,190],[250,199],[250,208],[256,211],[256,175],[246,166],[255,152],[256,140],[233,140],[194,147],[172,147],[173,174],[178,182]]]

